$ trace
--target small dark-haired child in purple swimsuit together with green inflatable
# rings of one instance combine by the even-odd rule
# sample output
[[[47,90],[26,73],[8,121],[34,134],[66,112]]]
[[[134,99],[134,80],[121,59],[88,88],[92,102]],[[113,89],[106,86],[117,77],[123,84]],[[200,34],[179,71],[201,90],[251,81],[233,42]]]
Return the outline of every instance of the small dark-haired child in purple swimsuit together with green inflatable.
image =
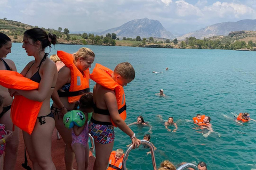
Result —
[[[77,168],[88,169],[89,164],[89,131],[87,121],[93,111],[92,93],[84,94],[79,100],[79,109],[69,111],[63,117],[66,128],[72,129],[71,147],[75,152]]]

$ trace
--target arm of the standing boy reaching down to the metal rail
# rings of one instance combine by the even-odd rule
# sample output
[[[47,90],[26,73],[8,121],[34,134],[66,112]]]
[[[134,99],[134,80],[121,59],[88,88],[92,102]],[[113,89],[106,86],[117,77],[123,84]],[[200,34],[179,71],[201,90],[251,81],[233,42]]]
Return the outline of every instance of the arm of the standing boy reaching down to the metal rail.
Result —
[[[108,92],[106,92],[106,94],[104,95],[104,100],[113,122],[116,124],[116,126],[119,129],[121,129],[124,133],[129,135],[129,137],[132,140],[133,149],[136,146],[138,148],[140,145],[140,140],[134,136],[133,131],[129,128],[129,126],[127,126],[124,120],[119,116],[117,101],[116,101],[116,96],[114,91],[108,90]]]

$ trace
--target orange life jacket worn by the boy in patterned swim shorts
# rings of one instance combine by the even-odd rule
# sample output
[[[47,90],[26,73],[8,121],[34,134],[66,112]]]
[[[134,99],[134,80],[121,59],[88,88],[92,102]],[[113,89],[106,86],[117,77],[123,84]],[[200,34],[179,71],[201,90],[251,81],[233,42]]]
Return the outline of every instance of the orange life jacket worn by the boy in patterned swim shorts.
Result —
[[[126,103],[125,103],[124,88],[111,77],[111,74],[113,74],[112,70],[97,63],[93,69],[92,74],[90,75],[90,78],[107,89],[115,90],[119,116],[123,120],[125,120],[126,119]],[[111,119],[111,123],[116,127],[112,119]]]

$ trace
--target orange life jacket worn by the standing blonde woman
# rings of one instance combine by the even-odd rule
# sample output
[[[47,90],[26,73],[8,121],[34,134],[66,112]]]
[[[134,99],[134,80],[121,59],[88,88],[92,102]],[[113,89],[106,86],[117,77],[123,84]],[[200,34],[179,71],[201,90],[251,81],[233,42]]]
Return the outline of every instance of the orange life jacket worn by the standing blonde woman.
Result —
[[[69,92],[58,91],[59,97],[68,97],[69,103],[75,103],[84,93],[90,92],[90,71],[87,69],[82,74],[74,64],[72,54],[57,51],[57,55],[71,71]]]

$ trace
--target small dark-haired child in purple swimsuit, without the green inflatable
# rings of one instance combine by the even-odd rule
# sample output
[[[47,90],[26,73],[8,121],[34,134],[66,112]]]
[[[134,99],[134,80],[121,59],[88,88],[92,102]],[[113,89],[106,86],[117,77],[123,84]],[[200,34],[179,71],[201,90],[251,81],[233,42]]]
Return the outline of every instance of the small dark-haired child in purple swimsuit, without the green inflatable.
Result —
[[[88,131],[88,114],[93,111],[92,93],[84,94],[79,100],[79,110],[85,115],[85,124],[81,127],[74,125],[72,129],[71,147],[75,152],[77,168],[88,169],[89,164],[89,131]]]

